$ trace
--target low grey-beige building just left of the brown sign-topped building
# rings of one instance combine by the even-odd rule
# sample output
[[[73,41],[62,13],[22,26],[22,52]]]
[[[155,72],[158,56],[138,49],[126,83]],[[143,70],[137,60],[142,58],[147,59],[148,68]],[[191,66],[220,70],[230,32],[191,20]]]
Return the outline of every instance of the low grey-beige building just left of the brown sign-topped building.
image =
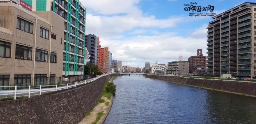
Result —
[[[182,57],[179,57],[179,61],[171,61],[168,62],[168,69],[166,70],[166,74],[171,75],[182,75],[188,74],[188,61],[183,61]]]

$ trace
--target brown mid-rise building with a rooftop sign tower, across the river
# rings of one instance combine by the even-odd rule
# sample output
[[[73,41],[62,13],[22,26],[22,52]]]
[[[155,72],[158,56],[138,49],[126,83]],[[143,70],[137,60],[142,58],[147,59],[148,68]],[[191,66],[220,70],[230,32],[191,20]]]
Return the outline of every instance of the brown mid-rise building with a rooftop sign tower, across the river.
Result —
[[[202,49],[197,49],[197,56],[191,56],[188,58],[189,73],[196,75],[205,74],[205,62],[206,57],[202,54]]]

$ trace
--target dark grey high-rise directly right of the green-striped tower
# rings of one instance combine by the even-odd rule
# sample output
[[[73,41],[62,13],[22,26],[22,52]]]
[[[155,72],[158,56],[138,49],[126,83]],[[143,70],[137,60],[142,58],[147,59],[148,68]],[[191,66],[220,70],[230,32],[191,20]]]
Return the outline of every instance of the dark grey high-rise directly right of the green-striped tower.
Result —
[[[97,43],[98,38],[94,34],[85,35],[85,47],[88,48],[90,61],[97,65]]]

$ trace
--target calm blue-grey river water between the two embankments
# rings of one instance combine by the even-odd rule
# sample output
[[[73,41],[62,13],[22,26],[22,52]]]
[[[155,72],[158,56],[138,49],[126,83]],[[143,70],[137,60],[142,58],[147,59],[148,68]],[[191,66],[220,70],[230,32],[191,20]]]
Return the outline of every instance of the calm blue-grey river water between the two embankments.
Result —
[[[256,98],[131,75],[114,78],[104,124],[256,124]]]

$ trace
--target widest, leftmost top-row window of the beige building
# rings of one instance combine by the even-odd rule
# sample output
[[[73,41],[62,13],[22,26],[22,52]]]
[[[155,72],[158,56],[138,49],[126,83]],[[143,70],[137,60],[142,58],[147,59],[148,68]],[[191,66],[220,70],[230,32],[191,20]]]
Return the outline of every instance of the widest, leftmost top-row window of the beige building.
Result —
[[[17,29],[33,34],[33,23],[17,17]]]

